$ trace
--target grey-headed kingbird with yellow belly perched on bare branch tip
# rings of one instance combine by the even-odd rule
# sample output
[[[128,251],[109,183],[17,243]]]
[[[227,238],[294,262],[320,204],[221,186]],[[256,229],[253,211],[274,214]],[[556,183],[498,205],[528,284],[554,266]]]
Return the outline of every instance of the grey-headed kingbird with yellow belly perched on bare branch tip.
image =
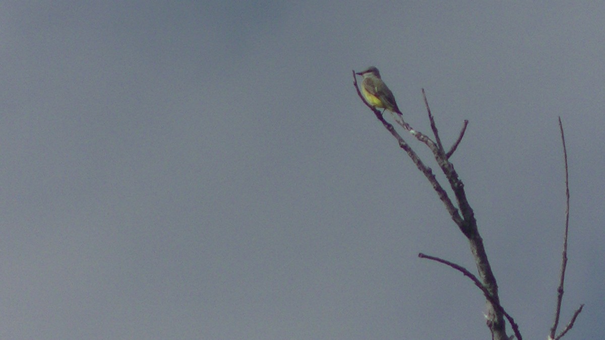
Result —
[[[361,83],[361,93],[364,94],[365,100],[371,106],[384,108],[402,116],[401,111],[397,107],[397,102],[395,102],[395,97],[391,90],[388,89],[387,84],[382,81],[378,68],[370,66],[367,70],[356,74],[364,77],[364,81]],[[384,113],[384,110],[382,110],[382,113]]]

